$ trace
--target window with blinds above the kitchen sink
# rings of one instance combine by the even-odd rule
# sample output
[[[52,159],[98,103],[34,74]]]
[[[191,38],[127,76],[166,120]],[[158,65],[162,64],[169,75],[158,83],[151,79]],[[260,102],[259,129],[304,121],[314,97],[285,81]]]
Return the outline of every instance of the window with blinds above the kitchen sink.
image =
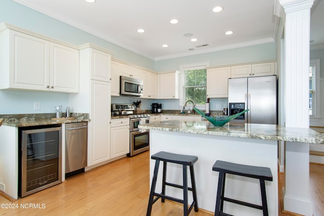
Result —
[[[196,106],[206,104],[207,64],[199,66],[182,67],[182,100],[183,105],[187,100],[193,101]]]

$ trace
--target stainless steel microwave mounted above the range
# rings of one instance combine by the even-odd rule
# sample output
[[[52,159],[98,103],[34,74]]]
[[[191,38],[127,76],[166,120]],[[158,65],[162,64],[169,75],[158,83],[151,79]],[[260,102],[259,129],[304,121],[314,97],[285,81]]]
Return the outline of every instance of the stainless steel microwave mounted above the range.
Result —
[[[120,95],[143,96],[143,80],[120,76]]]

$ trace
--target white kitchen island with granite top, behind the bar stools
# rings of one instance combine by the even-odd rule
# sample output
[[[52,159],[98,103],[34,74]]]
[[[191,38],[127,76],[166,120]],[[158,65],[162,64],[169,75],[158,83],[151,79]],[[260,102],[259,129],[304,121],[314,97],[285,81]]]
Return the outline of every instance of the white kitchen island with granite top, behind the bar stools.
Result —
[[[212,171],[212,166],[216,160],[224,160],[271,169],[273,181],[266,182],[268,209],[269,215],[278,215],[277,141],[286,141],[286,190],[288,188],[295,194],[285,195],[285,207],[294,209],[290,210],[293,212],[311,215],[308,213],[312,211],[309,199],[309,143],[324,144],[323,135],[311,129],[272,124],[227,123],[217,127],[208,121],[170,120],[142,124],[139,127],[150,129],[150,155],[168,151],[198,157],[194,164],[198,207],[212,212],[215,211],[218,182],[218,172]],[[150,162],[151,177],[154,162]],[[161,190],[161,173],[160,170],[156,192]],[[167,179],[182,184],[181,166],[169,164]],[[292,182],[291,179],[296,184],[288,185],[288,182]],[[260,205],[259,188],[258,180],[227,175],[225,195]],[[167,187],[166,193],[182,198],[179,189]],[[191,197],[189,192],[189,203]],[[224,212],[233,215],[261,215],[261,210],[229,202],[224,202]]]

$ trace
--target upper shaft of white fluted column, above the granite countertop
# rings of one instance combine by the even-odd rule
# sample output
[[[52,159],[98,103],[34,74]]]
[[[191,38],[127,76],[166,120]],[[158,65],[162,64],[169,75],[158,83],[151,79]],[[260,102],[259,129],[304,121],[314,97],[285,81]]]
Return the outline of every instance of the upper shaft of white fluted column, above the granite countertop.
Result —
[[[285,116],[287,127],[309,127],[309,30],[314,0],[279,0],[285,23]]]

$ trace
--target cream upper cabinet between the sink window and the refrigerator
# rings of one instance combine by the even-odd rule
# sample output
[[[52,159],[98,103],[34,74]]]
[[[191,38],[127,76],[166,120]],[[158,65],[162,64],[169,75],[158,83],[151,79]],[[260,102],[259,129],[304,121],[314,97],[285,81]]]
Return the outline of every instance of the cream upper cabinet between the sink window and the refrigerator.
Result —
[[[231,67],[207,69],[207,98],[227,98]]]

